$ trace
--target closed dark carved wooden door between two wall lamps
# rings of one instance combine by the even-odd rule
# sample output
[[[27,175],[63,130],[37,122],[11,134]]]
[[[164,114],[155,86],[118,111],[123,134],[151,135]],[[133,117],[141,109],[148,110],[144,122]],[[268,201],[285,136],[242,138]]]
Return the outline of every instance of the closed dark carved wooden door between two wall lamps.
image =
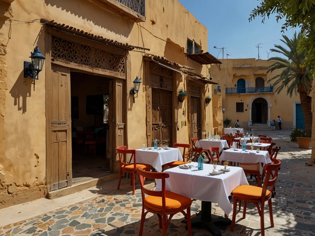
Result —
[[[152,144],[173,146],[172,92],[152,88]]]

